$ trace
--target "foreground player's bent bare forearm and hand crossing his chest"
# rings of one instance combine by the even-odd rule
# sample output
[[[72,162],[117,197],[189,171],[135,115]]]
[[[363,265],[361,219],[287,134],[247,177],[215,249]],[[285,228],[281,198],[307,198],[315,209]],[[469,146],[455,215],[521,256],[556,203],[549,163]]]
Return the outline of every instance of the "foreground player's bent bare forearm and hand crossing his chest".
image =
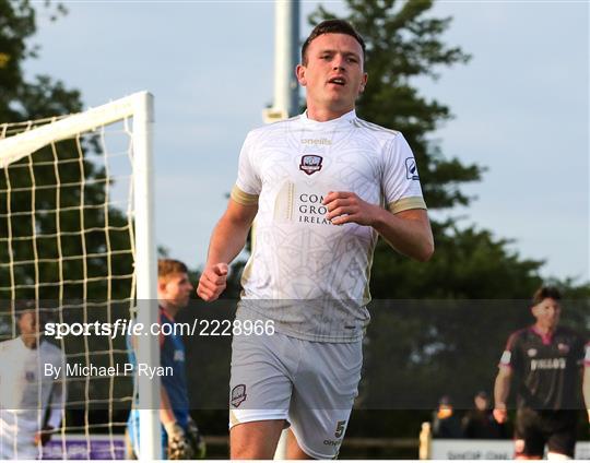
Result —
[[[330,191],[323,204],[328,207],[328,219],[334,225],[354,223],[370,226],[396,250],[422,262],[434,253],[433,232],[424,209],[393,214],[349,191]]]

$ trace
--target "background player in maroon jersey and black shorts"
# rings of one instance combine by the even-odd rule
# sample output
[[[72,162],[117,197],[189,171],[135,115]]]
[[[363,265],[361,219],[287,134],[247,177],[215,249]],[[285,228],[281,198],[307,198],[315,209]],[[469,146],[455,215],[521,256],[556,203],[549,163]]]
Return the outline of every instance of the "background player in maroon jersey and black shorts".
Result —
[[[542,459],[545,443],[548,459],[574,458],[579,407],[577,384],[582,364],[582,390],[590,420],[590,343],[585,347],[575,331],[558,325],[560,298],[559,290],[548,286],[534,293],[531,312],[536,321],[510,335],[499,363],[494,417],[498,423],[506,422],[506,400],[510,380],[516,376],[517,459]]]

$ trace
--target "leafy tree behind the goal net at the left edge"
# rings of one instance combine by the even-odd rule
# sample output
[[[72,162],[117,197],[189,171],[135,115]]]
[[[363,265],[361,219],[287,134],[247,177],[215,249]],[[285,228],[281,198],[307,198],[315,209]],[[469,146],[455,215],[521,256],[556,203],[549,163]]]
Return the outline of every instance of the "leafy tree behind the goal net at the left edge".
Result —
[[[43,8],[51,19],[64,14],[60,4],[46,2]],[[37,75],[33,80],[25,79],[23,64],[27,59],[34,59],[39,47],[32,45],[35,34],[36,14],[39,7],[34,8],[27,0],[0,0],[0,120],[7,123],[48,118],[82,110],[81,94],[71,90],[61,81],[48,75]],[[0,126],[2,128],[8,126]],[[11,126],[14,127],[14,126]],[[0,136],[4,136],[0,131]],[[87,159],[90,153],[97,149],[96,140],[82,140],[81,146],[76,141],[59,142],[57,152],[60,163],[55,165],[51,147],[45,147],[34,153],[35,163],[31,166],[24,158],[2,169],[0,175],[0,300],[2,305],[11,304],[10,299],[35,298],[43,299],[44,308],[60,306],[55,311],[59,321],[101,322],[113,318],[129,316],[129,304],[126,308],[111,304],[122,295],[130,297],[131,278],[114,280],[117,276],[131,275],[133,262],[131,252],[110,258],[99,258],[107,249],[109,241],[111,250],[130,250],[131,242],[128,233],[117,229],[106,229],[108,218],[111,228],[127,225],[127,218],[120,211],[107,207],[82,207],[83,204],[104,204],[106,178],[104,167]],[[83,153],[82,163],[62,163],[78,159],[80,150]],[[68,183],[85,185],[68,186]],[[33,183],[44,187],[33,192]],[[59,186],[58,186],[59,183]],[[83,191],[83,192],[82,192]],[[84,201],[82,201],[84,200]],[[82,227],[82,223],[84,227]],[[68,237],[59,236],[60,232],[70,232]],[[84,229],[85,232],[80,233]],[[33,237],[36,239],[34,240]],[[93,256],[94,254],[94,256]],[[110,259],[110,262],[108,260]],[[44,261],[45,260],[45,261]],[[36,261],[38,265],[27,262]],[[110,265],[109,265],[110,264]],[[110,273],[106,266],[109,265]],[[59,285],[60,270],[74,284]],[[109,274],[114,278],[106,278]],[[92,281],[92,277],[101,277]],[[109,280],[111,280],[109,282]],[[36,287],[35,287],[36,286]],[[131,296],[132,297],[132,296]],[[102,306],[85,307],[87,300],[101,302]],[[64,305],[70,304],[70,308]],[[81,310],[84,308],[85,310]],[[108,309],[108,310],[107,310]],[[109,312],[110,310],[110,312]],[[125,311],[127,310],[127,311]],[[12,313],[1,310],[2,318],[11,318]],[[8,317],[7,317],[8,314]],[[10,327],[12,322],[5,322]],[[4,336],[10,333],[0,333]],[[76,360],[86,359],[97,366],[109,366],[126,360],[123,336],[118,336],[115,344],[99,336],[68,336],[62,347],[67,355]],[[111,355],[104,352],[119,349]],[[103,354],[94,354],[103,352]],[[69,382],[69,401],[76,399],[88,411],[90,399],[107,399],[113,388],[122,394],[131,394],[131,383],[127,378],[113,378],[101,381]],[[99,402],[98,402],[99,403]],[[129,404],[127,404],[129,405]],[[107,408],[99,405],[103,409]],[[117,404],[117,407],[120,407]],[[105,412],[106,414],[107,412]],[[102,419],[113,419],[103,416]],[[126,412],[123,412],[126,413]],[[125,415],[126,416],[126,415]],[[121,418],[125,419],[125,416]],[[79,415],[84,419],[83,414]],[[93,420],[91,415],[91,422]],[[70,419],[75,424],[76,418]],[[106,429],[106,428],[105,428]]]

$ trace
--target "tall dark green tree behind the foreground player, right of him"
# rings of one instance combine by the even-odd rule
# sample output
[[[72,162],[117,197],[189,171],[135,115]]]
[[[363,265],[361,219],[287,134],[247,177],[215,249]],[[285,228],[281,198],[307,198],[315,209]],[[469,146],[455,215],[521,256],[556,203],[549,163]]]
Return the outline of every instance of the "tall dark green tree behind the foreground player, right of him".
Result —
[[[369,80],[357,102],[359,117],[404,134],[416,157],[429,210],[469,205],[471,198],[460,187],[481,180],[485,169],[444,155],[429,133],[451,118],[450,109],[427,100],[412,86],[413,78],[437,79],[441,67],[469,62],[470,56],[461,48],[442,41],[451,19],[433,17],[432,0],[345,3],[344,19],[367,44]],[[309,22],[316,25],[333,17],[319,7]],[[491,390],[508,333],[530,322],[522,299],[543,282],[543,261],[522,259],[509,250],[510,240],[475,226],[460,228],[452,218],[433,221],[433,233],[436,250],[426,264],[392,252],[382,240],[376,248],[370,285],[375,320],[368,330],[358,402],[359,407],[370,411],[353,415],[352,434],[415,437],[420,422],[427,420],[437,399],[449,392],[469,406],[476,390]],[[577,285],[571,280],[554,283],[566,296],[590,295],[588,284]],[[588,304],[567,306],[565,322],[587,327]],[[484,335],[486,342],[482,343]],[[458,368],[459,364],[469,373]],[[399,401],[392,401],[394,397]]]

